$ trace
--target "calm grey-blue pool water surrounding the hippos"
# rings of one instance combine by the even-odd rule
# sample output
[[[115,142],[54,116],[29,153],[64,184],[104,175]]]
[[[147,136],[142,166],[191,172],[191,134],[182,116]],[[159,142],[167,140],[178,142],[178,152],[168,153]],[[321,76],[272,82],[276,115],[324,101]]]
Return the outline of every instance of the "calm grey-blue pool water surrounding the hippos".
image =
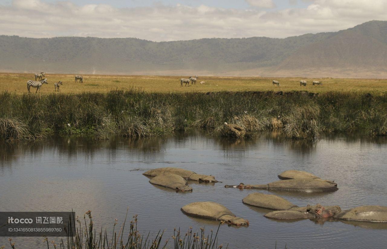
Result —
[[[92,137],[55,137],[37,142],[0,145],[1,211],[71,211],[83,218],[92,211],[94,226],[111,230],[138,214],[139,230],[174,227],[217,228],[218,223],[184,215],[180,208],[195,201],[216,201],[249,227],[220,228],[219,242],[229,248],[365,248],[385,247],[387,224],[277,222],[268,210],[244,205],[243,197],[257,190],[224,188],[224,184],[264,184],[289,169],[335,180],[332,193],[270,192],[298,206],[321,203],[342,209],[387,205],[387,139],[332,136],[317,142],[292,141],[276,134],[232,141],[200,132],[166,138],[96,141]],[[159,167],[181,167],[212,174],[223,183],[191,183],[193,192],[176,193],[149,184],[142,175]],[[139,169],[139,170],[138,170]],[[269,193],[269,191],[259,191]],[[9,246],[0,237],[0,247]],[[14,237],[16,248],[44,248],[42,238]],[[51,240],[51,239],[49,239]],[[57,244],[58,244],[57,240]],[[5,247],[8,248],[8,247]],[[225,247],[224,247],[225,248]]]

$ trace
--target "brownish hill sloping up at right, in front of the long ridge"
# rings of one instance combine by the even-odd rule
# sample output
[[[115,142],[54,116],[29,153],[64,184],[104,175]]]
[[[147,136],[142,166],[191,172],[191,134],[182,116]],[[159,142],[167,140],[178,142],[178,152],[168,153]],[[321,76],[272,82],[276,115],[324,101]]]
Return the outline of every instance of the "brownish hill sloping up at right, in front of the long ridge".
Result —
[[[380,25],[383,24],[383,25]],[[368,22],[303,46],[277,70],[318,68],[384,69],[387,67],[387,24]]]

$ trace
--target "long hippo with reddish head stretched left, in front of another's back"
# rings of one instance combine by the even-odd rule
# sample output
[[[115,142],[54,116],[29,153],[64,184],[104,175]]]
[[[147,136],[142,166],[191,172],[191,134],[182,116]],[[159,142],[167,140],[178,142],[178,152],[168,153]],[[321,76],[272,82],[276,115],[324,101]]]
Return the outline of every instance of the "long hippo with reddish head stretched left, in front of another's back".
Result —
[[[315,179],[290,179],[279,180],[269,184],[260,185],[225,185],[224,187],[234,187],[240,189],[267,189],[284,191],[303,191],[303,192],[333,192],[338,188],[337,184]]]

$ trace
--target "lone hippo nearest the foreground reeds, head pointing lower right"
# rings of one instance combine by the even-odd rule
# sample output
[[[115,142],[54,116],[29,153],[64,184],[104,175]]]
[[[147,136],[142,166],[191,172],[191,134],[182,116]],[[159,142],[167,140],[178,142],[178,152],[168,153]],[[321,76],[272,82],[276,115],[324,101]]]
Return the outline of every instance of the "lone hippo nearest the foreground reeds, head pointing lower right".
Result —
[[[220,220],[230,225],[248,226],[248,220],[236,217],[225,206],[212,202],[201,201],[187,204],[181,208],[182,212],[189,216],[206,218],[211,220]]]

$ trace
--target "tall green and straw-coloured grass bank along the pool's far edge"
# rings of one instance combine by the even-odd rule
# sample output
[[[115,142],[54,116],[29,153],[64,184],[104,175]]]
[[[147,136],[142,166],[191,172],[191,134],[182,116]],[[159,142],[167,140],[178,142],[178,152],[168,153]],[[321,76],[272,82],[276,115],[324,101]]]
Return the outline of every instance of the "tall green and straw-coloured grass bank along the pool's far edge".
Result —
[[[279,130],[289,138],[362,130],[387,134],[387,93],[293,92],[0,93],[0,139],[34,139],[47,134],[95,134],[106,139],[161,136],[192,128],[233,136],[224,122],[251,136]]]

